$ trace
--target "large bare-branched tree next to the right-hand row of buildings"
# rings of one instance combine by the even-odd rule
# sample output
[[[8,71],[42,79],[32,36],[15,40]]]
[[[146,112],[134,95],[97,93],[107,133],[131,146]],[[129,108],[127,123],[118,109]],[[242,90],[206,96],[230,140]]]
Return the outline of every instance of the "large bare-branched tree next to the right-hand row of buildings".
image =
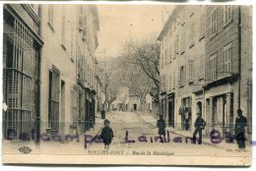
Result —
[[[154,96],[154,101],[159,105],[160,93],[160,45],[152,40],[144,40],[142,42],[127,42],[125,45],[124,60],[126,64],[138,68],[137,74],[144,73],[149,81],[146,82],[149,86],[145,86],[149,93]],[[135,77],[136,78],[136,77]],[[143,78],[143,77],[141,77]],[[143,80],[140,80],[142,82]],[[140,83],[140,82],[134,82]],[[139,87],[139,86],[137,86]]]

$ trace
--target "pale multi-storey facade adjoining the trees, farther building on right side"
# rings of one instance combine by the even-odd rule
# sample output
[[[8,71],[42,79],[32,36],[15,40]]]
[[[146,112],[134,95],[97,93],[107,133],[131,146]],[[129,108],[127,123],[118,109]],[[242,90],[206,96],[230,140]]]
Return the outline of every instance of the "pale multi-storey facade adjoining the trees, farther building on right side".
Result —
[[[160,113],[181,130],[191,130],[202,112],[205,14],[204,6],[178,6],[159,36]]]

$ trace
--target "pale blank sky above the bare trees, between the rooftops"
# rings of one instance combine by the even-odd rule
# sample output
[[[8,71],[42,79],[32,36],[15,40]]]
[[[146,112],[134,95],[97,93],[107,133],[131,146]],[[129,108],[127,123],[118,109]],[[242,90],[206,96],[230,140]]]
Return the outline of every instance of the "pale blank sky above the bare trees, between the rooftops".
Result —
[[[126,40],[151,37],[157,41],[172,8],[163,5],[97,5],[99,31],[96,56],[121,55]]]

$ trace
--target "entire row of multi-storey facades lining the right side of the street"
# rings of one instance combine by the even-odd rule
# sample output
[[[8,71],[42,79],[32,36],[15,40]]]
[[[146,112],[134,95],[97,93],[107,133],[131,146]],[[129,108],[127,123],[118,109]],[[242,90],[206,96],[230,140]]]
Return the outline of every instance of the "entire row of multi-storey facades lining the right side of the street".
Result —
[[[178,6],[159,36],[160,111],[169,126],[192,130],[196,113],[204,131],[233,131],[236,110],[251,123],[251,8]],[[251,125],[248,125],[251,133]]]

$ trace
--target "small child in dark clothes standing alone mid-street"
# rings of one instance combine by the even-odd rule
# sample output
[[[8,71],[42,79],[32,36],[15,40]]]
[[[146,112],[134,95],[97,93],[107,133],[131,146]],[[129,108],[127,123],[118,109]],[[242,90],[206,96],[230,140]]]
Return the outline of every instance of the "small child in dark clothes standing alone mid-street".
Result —
[[[114,134],[113,134],[113,130],[109,126],[110,121],[105,119],[103,123],[104,123],[104,127],[101,131],[101,138],[103,139],[103,142],[104,142],[104,148],[109,149],[109,144],[111,143],[114,137]]]

